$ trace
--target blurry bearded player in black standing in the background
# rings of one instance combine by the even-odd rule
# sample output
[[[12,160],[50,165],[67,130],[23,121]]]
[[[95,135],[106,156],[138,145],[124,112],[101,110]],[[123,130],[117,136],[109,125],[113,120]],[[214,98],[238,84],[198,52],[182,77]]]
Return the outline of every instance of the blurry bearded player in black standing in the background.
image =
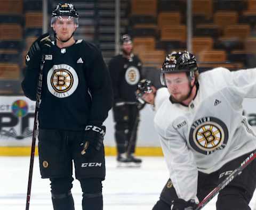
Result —
[[[114,91],[113,114],[117,162],[122,165],[140,165],[141,159],[134,157],[139,124],[139,107],[135,98],[137,84],[141,78],[141,61],[132,53],[132,39],[123,35],[120,41],[122,52],[109,62],[109,71]]]

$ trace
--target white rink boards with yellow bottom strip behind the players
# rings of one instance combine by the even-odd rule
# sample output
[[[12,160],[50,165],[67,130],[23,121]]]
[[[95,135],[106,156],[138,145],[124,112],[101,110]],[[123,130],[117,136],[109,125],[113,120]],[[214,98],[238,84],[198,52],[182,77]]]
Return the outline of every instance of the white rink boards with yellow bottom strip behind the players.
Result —
[[[256,99],[244,100],[244,114],[256,130]],[[0,156],[30,155],[35,102],[24,96],[0,96]],[[50,119],[49,119],[50,120]],[[162,156],[154,129],[154,112],[149,105],[140,112],[136,153],[141,156]],[[106,155],[116,155],[112,111],[104,122]],[[37,154],[37,149],[36,149]]]

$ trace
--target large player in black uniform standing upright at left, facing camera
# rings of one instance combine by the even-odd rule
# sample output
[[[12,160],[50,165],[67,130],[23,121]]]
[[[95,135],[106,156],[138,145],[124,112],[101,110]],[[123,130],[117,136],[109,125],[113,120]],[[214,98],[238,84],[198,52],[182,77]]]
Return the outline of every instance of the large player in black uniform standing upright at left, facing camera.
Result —
[[[22,89],[36,100],[42,54],[42,101],[39,108],[38,152],[42,178],[51,181],[54,210],[74,210],[71,195],[73,161],[83,191],[83,209],[103,209],[105,179],[103,121],[111,108],[110,75],[101,52],[93,44],[75,40],[78,13],[73,4],[58,4],[49,34],[39,37],[26,56]],[[90,167],[89,167],[90,166]]]

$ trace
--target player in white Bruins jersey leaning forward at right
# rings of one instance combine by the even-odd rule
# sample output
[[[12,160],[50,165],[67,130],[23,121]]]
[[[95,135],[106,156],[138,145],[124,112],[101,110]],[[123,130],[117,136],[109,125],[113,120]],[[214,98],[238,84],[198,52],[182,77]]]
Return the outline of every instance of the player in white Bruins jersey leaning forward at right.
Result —
[[[154,123],[170,179],[153,210],[194,209],[256,149],[242,115],[243,99],[256,97],[256,69],[198,74],[195,56],[185,51],[167,57],[161,82],[171,96],[159,106]],[[254,161],[220,191],[217,210],[250,209],[255,174]]]

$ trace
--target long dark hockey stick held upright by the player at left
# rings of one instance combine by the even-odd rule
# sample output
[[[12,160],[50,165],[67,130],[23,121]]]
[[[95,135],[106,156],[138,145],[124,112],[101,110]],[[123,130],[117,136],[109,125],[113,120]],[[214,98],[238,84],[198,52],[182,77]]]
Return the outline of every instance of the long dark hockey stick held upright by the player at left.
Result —
[[[29,210],[30,203],[30,192],[31,192],[31,184],[32,184],[32,175],[33,175],[33,167],[34,167],[34,157],[35,157],[35,146],[36,146],[36,131],[37,131],[37,122],[38,122],[38,110],[41,103],[41,90],[42,90],[42,79],[43,79],[43,68],[44,68],[45,57],[42,55],[42,61],[39,71],[37,90],[36,90],[36,108],[34,115],[34,129],[33,129],[33,137],[31,144],[31,153],[30,153],[30,165],[29,165],[29,174],[28,174],[28,189],[27,189],[27,202],[26,202],[26,210]]]

